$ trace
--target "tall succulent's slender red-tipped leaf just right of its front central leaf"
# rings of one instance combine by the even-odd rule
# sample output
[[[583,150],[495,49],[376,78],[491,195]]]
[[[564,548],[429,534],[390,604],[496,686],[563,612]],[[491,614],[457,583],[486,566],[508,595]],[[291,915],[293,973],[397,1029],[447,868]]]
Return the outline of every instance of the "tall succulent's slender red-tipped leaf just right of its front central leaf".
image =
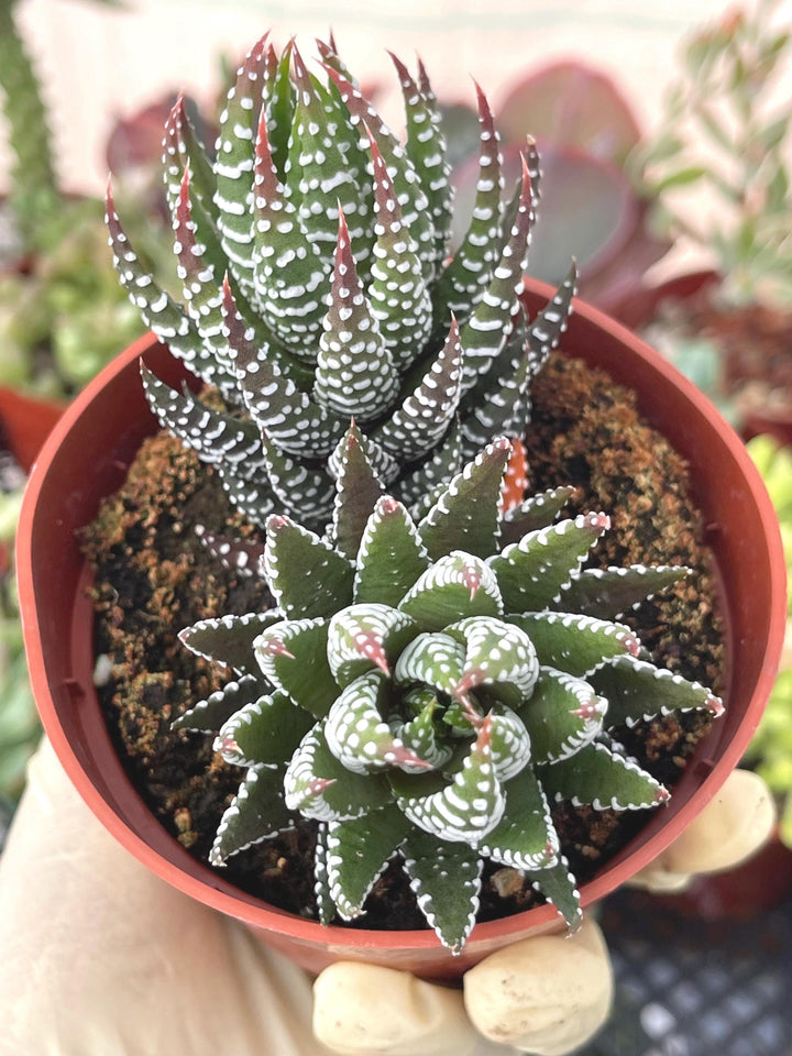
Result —
[[[366,129],[366,132],[369,130]],[[402,216],[394,185],[370,138],[374,165],[374,256],[369,284],[371,314],[396,369],[405,371],[431,333],[432,308],[418,245]]]

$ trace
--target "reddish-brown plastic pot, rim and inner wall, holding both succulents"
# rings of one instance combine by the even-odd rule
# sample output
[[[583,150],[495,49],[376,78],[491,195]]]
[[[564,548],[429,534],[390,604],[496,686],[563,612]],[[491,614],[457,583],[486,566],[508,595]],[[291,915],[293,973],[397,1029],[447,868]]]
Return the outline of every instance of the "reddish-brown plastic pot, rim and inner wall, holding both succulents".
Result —
[[[531,314],[551,289],[527,283]],[[644,416],[691,463],[694,498],[715,553],[726,614],[727,712],[702,741],[668,807],[582,890],[588,905],[656,857],[712,799],[739,761],[773,683],[783,640],[785,566],[778,522],[736,433],[678,371],[632,333],[578,304],[564,346],[638,394]],[[78,396],[31,474],[18,537],[19,591],[33,689],[44,726],[72,780],[111,833],[176,888],[261,932],[263,941],[312,970],[371,959],[451,978],[494,949],[560,928],[552,906],[476,925],[452,958],[431,931],[374,932],[319,924],[273,909],[204,866],[156,822],[119,761],[91,683],[92,613],[76,529],[123,480],[155,422],[143,397],[143,356],[174,385],[184,372],[151,338],[130,348]]]

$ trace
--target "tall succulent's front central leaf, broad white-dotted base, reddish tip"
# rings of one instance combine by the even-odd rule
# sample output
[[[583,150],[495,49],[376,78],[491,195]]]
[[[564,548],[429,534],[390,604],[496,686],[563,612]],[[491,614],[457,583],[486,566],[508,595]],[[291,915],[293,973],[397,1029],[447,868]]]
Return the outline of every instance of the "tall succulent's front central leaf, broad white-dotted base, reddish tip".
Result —
[[[381,332],[378,314],[358,276],[343,212],[339,215],[330,306],[322,327],[316,399],[343,417],[377,418],[396,399],[398,372]]]

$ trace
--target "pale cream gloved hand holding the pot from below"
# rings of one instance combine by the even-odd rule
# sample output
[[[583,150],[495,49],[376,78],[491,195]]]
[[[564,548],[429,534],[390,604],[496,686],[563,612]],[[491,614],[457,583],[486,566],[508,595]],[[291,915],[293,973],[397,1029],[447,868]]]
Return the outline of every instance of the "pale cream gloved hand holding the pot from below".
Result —
[[[492,955],[463,990],[356,964],[312,985],[135,861],[46,741],[0,857],[0,950],[3,1056],[561,1056],[613,988],[591,920]]]

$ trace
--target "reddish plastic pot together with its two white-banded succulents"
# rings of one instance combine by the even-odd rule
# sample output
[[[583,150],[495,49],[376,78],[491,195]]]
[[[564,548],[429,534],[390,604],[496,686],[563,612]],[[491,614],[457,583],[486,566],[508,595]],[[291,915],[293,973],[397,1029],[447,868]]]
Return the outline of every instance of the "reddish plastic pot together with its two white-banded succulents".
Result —
[[[321,56],[323,79],[294,44],[278,58],[266,37],[258,42],[220,118],[213,166],[175,107],[165,162],[186,308],[141,264],[109,197],[121,280],[182,363],[155,338],[139,343],[56,427],[22,515],[22,614],[53,744],[141,860],[305,966],[372,957],[448,977],[560,923],[551,905],[539,905],[479,924],[469,938],[482,859],[522,887],[536,883],[573,926],[581,901],[639,869],[714,794],[772,680],[783,558],[759,476],[708,403],[586,306],[570,321],[573,273],[558,292],[524,289],[539,183],[532,144],[504,237],[496,138],[480,94],[475,209],[448,262],[450,193],[426,73],[416,81],[396,61],[403,145],[334,45],[322,45]],[[504,490],[507,469],[521,469],[512,452],[526,431],[530,383],[568,327],[569,351],[634,388],[641,414],[692,463],[722,580],[724,714],[710,690],[653,664],[618,618],[685,569],[583,568],[606,514],[557,520],[574,491],[563,485],[528,499],[514,479]],[[189,376],[191,387],[179,389]],[[200,382],[210,387],[197,393]],[[146,404],[209,471],[170,439],[141,447],[155,429]],[[155,447],[162,475],[153,472]],[[228,524],[222,515],[220,530],[204,521],[195,543],[189,526],[201,526],[185,507],[199,476],[215,488],[204,497],[207,518],[227,501],[237,512]],[[102,507],[88,549],[96,557],[95,529],[107,532],[112,561],[154,537],[170,542],[146,558],[141,606],[110,584],[112,613],[95,648],[92,572],[76,534],[86,539],[100,501],[124,479],[131,491]],[[164,493],[161,518],[150,499]],[[119,509],[134,522],[130,535],[114,519]],[[206,618],[184,618],[177,629],[189,650],[233,675],[202,668],[202,700],[189,710],[184,695],[174,703],[185,682],[176,670],[144,679],[143,695],[162,702],[160,719],[175,721],[170,736],[193,750],[185,729],[216,734],[210,783],[218,767],[245,768],[209,861],[186,849],[188,825],[179,840],[156,821],[97,698],[97,685],[117,682],[122,667],[102,654],[107,635],[132,613],[139,629],[124,654],[145,652],[157,622],[148,602],[165,607],[179,584],[195,588],[186,554],[196,548],[227,566],[241,609],[223,610],[229,594],[206,580],[199,587],[207,601],[222,594],[220,610],[205,606]],[[95,597],[101,593],[97,583]],[[167,663],[174,649],[164,647]],[[148,662],[162,659],[148,651]],[[664,805],[668,790],[618,738],[678,711],[719,717]],[[551,814],[556,800],[616,814],[651,809],[582,899]],[[321,921],[360,914],[398,853],[433,931],[322,924],[306,917],[309,906],[267,905],[212,868],[283,829],[309,844]]]

